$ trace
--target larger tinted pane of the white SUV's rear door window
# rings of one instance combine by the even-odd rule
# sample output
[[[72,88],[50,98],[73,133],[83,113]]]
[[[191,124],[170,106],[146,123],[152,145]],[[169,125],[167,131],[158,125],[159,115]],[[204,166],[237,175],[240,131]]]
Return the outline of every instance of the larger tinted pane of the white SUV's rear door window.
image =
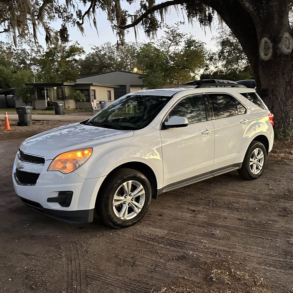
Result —
[[[238,115],[236,100],[233,96],[223,93],[209,94],[214,112],[214,119]]]

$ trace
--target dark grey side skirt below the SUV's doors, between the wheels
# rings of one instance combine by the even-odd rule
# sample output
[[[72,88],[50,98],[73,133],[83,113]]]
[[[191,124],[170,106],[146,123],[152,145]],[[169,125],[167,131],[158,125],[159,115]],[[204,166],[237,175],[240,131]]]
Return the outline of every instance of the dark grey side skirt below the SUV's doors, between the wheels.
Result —
[[[226,166],[226,167],[223,167],[223,168],[213,170],[211,172],[203,173],[203,174],[191,177],[191,178],[187,178],[187,179],[184,179],[184,180],[180,180],[180,181],[168,184],[168,185],[164,186],[163,188],[158,189],[157,195],[159,195],[161,193],[164,193],[164,192],[167,192],[167,191],[177,189],[177,188],[181,188],[181,187],[184,187],[184,186],[196,183],[196,182],[200,182],[202,180],[206,180],[206,179],[218,176],[218,175],[222,175],[224,173],[234,171],[236,169],[241,168],[241,166],[242,166],[242,162],[232,164],[232,165],[229,165],[229,166]]]

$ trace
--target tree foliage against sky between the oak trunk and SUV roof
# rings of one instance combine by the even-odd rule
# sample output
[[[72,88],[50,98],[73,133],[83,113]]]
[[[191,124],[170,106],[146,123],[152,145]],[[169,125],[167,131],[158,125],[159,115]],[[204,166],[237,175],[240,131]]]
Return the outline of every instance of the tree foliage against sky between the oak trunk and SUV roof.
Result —
[[[218,50],[209,52],[207,67],[200,78],[234,81],[254,79],[246,54],[229,28],[224,26],[219,30],[215,40]]]

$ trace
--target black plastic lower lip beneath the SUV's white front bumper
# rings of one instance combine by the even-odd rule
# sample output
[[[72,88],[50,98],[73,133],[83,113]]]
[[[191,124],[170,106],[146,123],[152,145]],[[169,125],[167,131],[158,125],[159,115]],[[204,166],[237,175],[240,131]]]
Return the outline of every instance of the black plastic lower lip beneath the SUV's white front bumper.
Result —
[[[93,212],[94,209],[84,209],[84,210],[76,210],[76,211],[66,211],[66,210],[58,210],[58,209],[45,209],[38,202],[34,202],[32,200],[27,200],[21,196],[19,196],[21,201],[32,208],[34,211],[45,215],[47,217],[67,222],[67,223],[90,223],[93,222]]]

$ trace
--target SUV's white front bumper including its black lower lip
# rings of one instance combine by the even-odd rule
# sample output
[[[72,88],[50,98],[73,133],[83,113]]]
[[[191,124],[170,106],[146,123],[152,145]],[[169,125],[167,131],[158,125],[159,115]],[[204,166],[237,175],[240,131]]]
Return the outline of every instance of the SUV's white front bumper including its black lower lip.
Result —
[[[19,163],[16,156],[12,170],[16,194],[36,212],[54,219],[71,223],[92,222],[98,190],[105,177],[84,179],[74,172],[62,174],[58,171],[47,171],[50,162],[46,160],[43,166],[21,162],[24,166],[22,171],[35,171],[38,168],[35,172],[40,173],[35,185],[21,185],[14,177]],[[60,192],[66,191],[73,193],[69,206],[52,200]]]

